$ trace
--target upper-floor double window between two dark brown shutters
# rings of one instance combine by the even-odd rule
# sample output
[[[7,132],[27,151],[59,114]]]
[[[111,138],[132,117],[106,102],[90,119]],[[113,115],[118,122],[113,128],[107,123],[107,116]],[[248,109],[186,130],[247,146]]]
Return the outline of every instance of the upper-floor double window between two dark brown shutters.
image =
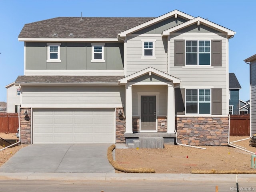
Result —
[[[186,40],[186,65],[211,65],[210,40]]]

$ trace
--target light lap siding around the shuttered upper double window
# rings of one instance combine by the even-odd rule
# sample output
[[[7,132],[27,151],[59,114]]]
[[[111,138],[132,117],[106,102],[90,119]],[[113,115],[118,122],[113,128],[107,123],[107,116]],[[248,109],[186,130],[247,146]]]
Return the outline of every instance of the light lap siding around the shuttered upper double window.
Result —
[[[175,64],[175,40],[221,40],[222,66],[174,66]],[[222,114],[228,114],[228,64],[227,46],[228,40],[223,35],[215,33],[176,33],[170,35],[170,70],[169,74],[180,78],[181,88],[220,88],[222,89]],[[185,46],[185,44],[184,44]],[[185,54],[184,54],[185,57]],[[184,60],[185,61],[185,60]]]

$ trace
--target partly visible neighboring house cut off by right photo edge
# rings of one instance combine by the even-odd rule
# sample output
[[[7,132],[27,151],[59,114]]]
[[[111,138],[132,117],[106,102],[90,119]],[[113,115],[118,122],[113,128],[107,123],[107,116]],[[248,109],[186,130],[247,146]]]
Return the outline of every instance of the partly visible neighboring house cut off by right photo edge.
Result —
[[[256,134],[256,54],[244,60],[250,64],[250,136]]]

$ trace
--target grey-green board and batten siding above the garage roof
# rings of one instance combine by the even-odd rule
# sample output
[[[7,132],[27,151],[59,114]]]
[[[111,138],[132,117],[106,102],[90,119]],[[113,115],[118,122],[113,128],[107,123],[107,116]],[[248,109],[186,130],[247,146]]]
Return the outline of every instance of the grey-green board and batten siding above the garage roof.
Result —
[[[91,43],[62,42],[60,46],[61,62],[47,62],[46,42],[25,43],[25,75],[33,74],[31,70],[123,70],[124,69],[124,44],[105,43],[105,62],[91,62]],[[47,75],[47,72],[45,73]],[[64,72],[63,72],[64,75]]]

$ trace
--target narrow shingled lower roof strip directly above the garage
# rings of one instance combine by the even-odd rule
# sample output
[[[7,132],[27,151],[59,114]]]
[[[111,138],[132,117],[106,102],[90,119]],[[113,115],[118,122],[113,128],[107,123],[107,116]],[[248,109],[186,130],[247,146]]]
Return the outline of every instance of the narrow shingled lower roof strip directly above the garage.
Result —
[[[16,83],[117,83],[124,76],[18,76]]]

